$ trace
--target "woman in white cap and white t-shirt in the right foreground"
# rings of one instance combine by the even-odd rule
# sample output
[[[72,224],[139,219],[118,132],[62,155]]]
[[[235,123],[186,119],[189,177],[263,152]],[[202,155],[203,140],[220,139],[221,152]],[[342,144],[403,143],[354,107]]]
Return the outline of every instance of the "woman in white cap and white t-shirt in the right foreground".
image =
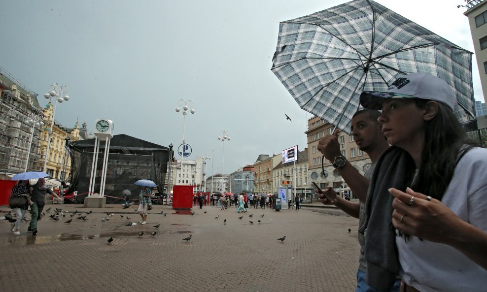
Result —
[[[382,109],[378,121],[392,145],[369,186],[360,228],[366,260],[391,271],[398,256],[404,291],[486,291],[487,149],[470,142],[455,101],[451,85],[426,73],[360,95],[365,108]],[[395,232],[384,234],[391,222]],[[370,275],[368,284],[388,283],[383,275]]]

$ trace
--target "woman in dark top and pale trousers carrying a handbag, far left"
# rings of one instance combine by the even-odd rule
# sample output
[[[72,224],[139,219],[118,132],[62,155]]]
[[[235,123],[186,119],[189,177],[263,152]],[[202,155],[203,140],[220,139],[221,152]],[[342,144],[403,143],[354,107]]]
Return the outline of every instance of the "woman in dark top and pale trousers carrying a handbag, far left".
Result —
[[[27,212],[29,204],[31,204],[31,191],[29,180],[19,181],[12,188],[12,195],[8,203],[17,217],[17,221],[12,224],[11,229],[15,235],[20,235],[20,222],[24,219],[25,212]]]

